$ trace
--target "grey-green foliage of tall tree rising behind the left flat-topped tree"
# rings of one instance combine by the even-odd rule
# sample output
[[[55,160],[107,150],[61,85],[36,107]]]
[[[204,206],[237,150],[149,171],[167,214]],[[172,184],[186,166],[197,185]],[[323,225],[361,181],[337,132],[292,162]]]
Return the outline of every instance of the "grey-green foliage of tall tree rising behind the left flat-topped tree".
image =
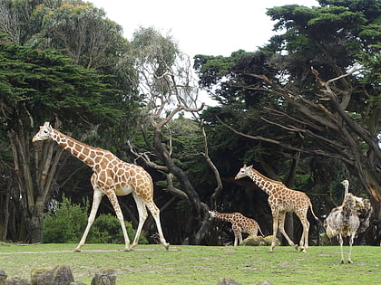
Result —
[[[97,81],[109,91],[98,97],[99,103],[103,108],[121,112],[118,120],[112,121],[113,128],[93,128],[93,132],[103,131],[102,137],[93,136],[93,143],[107,148],[112,138],[112,150],[120,152],[123,138],[136,127],[138,112],[135,109],[140,100],[132,63],[122,61],[123,54],[130,50],[130,43],[122,36],[122,27],[107,19],[103,9],[81,0],[2,0],[0,14],[3,15],[0,33],[5,34],[6,42],[39,50],[54,49],[71,58],[73,63],[103,74]],[[91,86],[87,86],[87,90],[97,92]],[[54,116],[46,117],[53,121]],[[78,118],[93,125],[107,122],[106,118]]]

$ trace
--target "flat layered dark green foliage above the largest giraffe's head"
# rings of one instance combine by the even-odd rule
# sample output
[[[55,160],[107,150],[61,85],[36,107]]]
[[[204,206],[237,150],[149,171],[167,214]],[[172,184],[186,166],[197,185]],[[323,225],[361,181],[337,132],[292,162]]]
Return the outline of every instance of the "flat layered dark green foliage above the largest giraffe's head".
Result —
[[[100,82],[102,75],[57,52],[0,43],[0,62],[2,127],[10,128],[16,118],[25,116],[40,122],[58,116],[63,121],[80,117],[101,123],[122,115],[101,103],[103,96],[112,93]]]

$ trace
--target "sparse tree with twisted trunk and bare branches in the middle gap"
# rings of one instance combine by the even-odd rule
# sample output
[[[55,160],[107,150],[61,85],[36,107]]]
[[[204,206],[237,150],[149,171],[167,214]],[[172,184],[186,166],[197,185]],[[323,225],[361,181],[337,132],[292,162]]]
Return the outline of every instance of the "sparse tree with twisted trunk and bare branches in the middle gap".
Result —
[[[132,152],[143,158],[149,166],[166,173],[168,191],[188,204],[185,236],[181,242],[200,244],[209,224],[208,206],[201,201],[190,181],[184,162],[187,159],[180,157],[181,151],[187,152],[189,148],[186,149],[184,144],[179,143],[182,138],[187,139],[189,146],[195,146],[192,142],[201,138],[198,146],[207,149],[202,125],[197,126],[197,119],[190,121],[181,115],[185,112],[198,118],[197,112],[203,109],[203,104],[197,104],[198,90],[192,80],[189,59],[181,54],[170,36],[162,36],[153,28],[141,28],[134,33],[132,47],[136,52],[135,66],[145,97],[143,114],[146,118],[146,123],[142,124],[146,152],[142,148],[135,151],[136,142],[131,144]],[[176,119],[177,116],[180,118]],[[194,126],[199,130],[195,131]],[[193,139],[193,136],[198,138]],[[197,152],[200,156],[202,151],[199,147],[197,150],[192,149],[192,152]],[[207,151],[202,155],[208,160]],[[208,163],[214,170],[217,169],[210,159]],[[218,172],[215,174],[218,176]]]

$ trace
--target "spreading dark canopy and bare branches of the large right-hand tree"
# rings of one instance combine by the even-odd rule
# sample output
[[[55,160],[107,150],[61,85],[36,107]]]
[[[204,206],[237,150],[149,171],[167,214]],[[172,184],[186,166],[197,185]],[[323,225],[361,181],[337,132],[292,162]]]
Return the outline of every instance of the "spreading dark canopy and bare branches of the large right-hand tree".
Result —
[[[284,161],[296,154],[338,159],[379,202],[381,100],[379,78],[372,74],[380,66],[380,4],[319,3],[269,9],[283,33],[258,52],[196,56],[201,86],[221,104],[204,116],[215,122],[210,114],[217,115],[241,136],[262,142],[261,151],[246,149],[240,156],[248,163],[263,157],[263,146]]]

